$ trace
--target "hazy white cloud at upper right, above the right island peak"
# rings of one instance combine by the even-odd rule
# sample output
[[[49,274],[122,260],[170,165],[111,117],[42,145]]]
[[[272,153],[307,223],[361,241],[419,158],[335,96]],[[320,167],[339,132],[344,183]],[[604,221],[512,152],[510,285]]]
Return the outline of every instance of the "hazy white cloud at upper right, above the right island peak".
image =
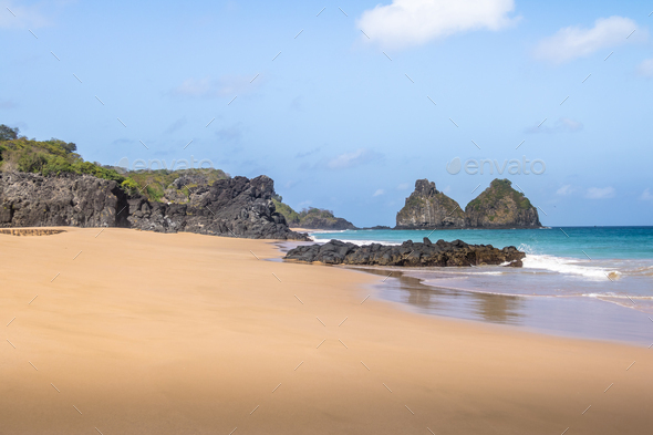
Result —
[[[635,33],[631,35],[631,32]],[[629,37],[630,35],[630,37]],[[601,49],[643,41],[646,31],[629,18],[600,18],[591,29],[569,27],[542,40],[536,48],[536,58],[553,63],[563,63],[577,58],[585,58]]]

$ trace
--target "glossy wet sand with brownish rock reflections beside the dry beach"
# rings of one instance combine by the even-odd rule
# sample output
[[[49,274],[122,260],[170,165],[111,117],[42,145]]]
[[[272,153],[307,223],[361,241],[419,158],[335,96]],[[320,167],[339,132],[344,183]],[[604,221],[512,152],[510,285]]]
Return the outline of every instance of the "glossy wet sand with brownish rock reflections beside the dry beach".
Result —
[[[374,286],[376,296],[424,314],[502,323],[557,335],[625,341],[649,345],[646,313],[579,297],[508,296],[465,291],[429,284],[412,271],[351,268],[383,277]],[[499,277],[498,277],[499,278]],[[505,279],[500,277],[499,279]],[[443,280],[444,283],[445,280]]]

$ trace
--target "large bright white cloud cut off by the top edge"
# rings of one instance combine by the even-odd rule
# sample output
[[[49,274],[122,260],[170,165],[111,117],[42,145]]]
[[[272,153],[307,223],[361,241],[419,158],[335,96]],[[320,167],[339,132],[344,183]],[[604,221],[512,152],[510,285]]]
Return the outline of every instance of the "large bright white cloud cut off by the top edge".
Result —
[[[514,0],[393,0],[363,12],[365,41],[386,48],[418,45],[470,30],[499,30],[514,20]]]

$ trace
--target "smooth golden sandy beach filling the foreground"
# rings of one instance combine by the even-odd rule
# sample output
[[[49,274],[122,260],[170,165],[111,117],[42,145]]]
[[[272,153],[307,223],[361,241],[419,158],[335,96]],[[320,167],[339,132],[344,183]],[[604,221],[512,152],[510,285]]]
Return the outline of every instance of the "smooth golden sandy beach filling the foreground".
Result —
[[[271,240],[65,229],[0,234],[0,434],[653,427],[651,349],[411,313]]]

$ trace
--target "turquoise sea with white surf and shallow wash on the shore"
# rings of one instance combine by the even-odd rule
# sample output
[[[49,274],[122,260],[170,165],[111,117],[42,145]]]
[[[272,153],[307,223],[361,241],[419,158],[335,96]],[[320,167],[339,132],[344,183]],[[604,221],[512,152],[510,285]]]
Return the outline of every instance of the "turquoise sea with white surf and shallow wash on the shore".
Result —
[[[385,282],[392,279],[384,281],[380,293],[439,315],[653,342],[653,227],[346,230],[311,236],[318,242],[357,245],[400,245],[429,237],[434,242],[515,246],[527,253],[522,268],[385,268],[402,279],[391,286]]]

